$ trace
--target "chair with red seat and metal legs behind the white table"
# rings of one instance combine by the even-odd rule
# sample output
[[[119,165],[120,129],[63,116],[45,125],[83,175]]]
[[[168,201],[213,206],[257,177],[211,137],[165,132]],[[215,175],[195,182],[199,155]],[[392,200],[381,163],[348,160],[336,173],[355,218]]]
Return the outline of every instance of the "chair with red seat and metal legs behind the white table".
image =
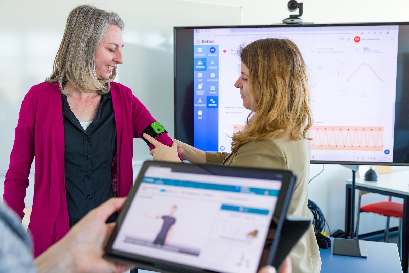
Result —
[[[378,174],[381,173],[389,173],[392,172],[391,166],[375,166],[374,169],[378,172]],[[359,216],[361,212],[369,212],[369,213],[375,213],[379,215],[383,215],[387,217],[387,225],[385,227],[385,242],[388,242],[388,235],[389,235],[389,222],[391,217],[396,217],[399,218],[399,237],[398,237],[398,251],[399,254],[401,253],[400,247],[401,247],[401,233],[402,233],[402,219],[403,219],[403,204],[397,203],[397,202],[392,202],[391,201],[391,196],[388,197],[388,201],[384,202],[377,202],[377,203],[372,203],[372,204],[367,204],[365,206],[361,206],[361,199],[362,195],[367,194],[369,192],[366,191],[360,191],[359,192],[359,204],[358,204],[358,216],[357,216],[357,223],[356,223],[356,238],[358,238],[358,231],[359,231]]]

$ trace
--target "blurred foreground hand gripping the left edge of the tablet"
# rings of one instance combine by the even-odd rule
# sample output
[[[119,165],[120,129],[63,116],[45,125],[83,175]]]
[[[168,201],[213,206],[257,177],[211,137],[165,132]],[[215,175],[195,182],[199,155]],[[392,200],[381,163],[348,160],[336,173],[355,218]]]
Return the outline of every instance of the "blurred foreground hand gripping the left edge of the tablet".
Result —
[[[115,223],[106,219],[119,211],[126,198],[111,198],[90,211],[69,233],[35,260],[39,272],[124,272],[132,265],[104,259],[105,244]]]

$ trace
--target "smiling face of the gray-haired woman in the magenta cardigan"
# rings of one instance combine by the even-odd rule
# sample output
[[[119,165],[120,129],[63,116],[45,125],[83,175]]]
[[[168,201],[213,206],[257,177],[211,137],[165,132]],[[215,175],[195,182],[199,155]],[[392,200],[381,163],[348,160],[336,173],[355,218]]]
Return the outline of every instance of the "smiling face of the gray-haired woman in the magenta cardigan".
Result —
[[[122,64],[122,31],[110,25],[106,30],[95,53],[95,69],[98,79],[108,79],[113,69]]]

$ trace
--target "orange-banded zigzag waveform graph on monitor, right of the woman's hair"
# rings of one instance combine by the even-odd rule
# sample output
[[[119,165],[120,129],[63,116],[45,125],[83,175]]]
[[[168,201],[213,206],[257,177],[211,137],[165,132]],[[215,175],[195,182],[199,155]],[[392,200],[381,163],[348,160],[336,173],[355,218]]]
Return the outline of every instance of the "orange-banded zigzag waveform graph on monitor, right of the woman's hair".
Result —
[[[383,127],[312,126],[309,132],[315,150],[383,150]]]

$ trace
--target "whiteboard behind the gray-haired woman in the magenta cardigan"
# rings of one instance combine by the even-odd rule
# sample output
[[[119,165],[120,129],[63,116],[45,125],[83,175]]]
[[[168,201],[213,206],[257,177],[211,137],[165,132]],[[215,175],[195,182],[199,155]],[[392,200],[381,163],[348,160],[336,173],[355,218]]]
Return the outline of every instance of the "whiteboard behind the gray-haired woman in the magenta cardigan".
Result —
[[[72,1],[0,0],[0,172],[8,169],[22,99],[52,72]],[[240,25],[241,7],[181,0],[94,1],[125,22],[124,64],[117,78],[132,89],[171,137],[173,121],[173,27]],[[151,158],[134,140],[134,161]]]

